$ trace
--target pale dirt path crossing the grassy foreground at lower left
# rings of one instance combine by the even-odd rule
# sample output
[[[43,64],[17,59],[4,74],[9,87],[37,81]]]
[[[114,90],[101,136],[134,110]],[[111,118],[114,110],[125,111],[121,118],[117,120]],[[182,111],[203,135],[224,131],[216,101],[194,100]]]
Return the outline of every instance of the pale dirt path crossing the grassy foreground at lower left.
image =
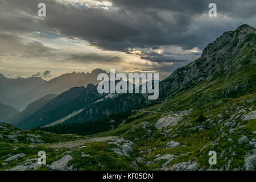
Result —
[[[65,143],[60,143],[60,144],[50,144],[50,145],[45,145],[46,147],[49,148],[72,148],[72,147],[78,147],[81,146],[84,143],[91,143],[91,142],[104,142],[106,140],[110,140],[112,138],[117,138],[117,137],[95,137],[95,138],[89,138],[85,140],[77,140],[77,141],[72,141],[72,142],[65,142]]]

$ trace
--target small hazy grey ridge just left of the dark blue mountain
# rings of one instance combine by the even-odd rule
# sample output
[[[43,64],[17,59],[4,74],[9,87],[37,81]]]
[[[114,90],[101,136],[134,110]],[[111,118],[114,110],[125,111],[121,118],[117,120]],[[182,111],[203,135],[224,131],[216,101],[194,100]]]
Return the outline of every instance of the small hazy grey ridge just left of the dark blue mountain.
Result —
[[[39,110],[41,107],[46,105],[49,101],[51,101],[56,96],[57,96],[56,94],[48,94],[40,98],[39,100],[32,102],[21,113],[15,114],[13,118],[9,121],[9,123],[11,123],[12,125],[18,125],[20,121],[22,121],[24,118],[27,118],[31,114],[35,113],[35,111]]]

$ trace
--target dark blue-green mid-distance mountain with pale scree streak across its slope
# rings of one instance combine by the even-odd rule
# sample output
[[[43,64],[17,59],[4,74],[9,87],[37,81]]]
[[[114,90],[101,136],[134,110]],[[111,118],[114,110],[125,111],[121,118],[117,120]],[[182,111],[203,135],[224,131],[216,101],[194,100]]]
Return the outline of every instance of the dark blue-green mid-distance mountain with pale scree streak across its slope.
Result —
[[[89,121],[136,109],[146,101],[142,94],[99,94],[97,85],[89,84],[61,93],[16,126],[30,129],[52,123]]]

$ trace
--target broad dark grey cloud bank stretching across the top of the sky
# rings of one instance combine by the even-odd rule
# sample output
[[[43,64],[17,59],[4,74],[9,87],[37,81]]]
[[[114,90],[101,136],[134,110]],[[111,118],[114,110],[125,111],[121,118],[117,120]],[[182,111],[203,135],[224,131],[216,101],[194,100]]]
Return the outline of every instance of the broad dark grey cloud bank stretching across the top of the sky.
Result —
[[[41,1],[4,0],[1,7],[22,10],[36,16],[39,2]],[[118,8],[114,11],[81,9],[50,0],[44,2],[47,5],[46,18],[35,22],[30,18],[3,16],[0,23],[7,23],[8,19],[14,22],[7,23],[6,27],[10,31],[24,31],[31,25],[31,31],[41,27],[60,32],[69,38],[84,39],[101,49],[127,52],[128,48],[157,49],[171,45],[183,49],[202,49],[222,32],[234,30],[243,23],[255,26],[256,20],[255,0],[214,1],[217,4],[217,13],[226,15],[228,19],[210,18],[208,5],[212,1],[208,0],[111,0],[113,6]],[[205,16],[201,18],[200,15]],[[159,62],[175,61],[171,56],[152,54],[145,53],[142,58]]]

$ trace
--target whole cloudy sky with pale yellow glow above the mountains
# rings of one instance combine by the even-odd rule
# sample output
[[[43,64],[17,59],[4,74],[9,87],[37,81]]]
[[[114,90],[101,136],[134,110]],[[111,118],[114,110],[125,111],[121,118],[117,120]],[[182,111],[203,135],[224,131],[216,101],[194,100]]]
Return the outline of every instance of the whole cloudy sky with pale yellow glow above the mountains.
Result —
[[[38,16],[40,2],[46,17]],[[211,2],[217,17],[208,15]],[[224,31],[256,27],[255,7],[255,0],[1,0],[0,73],[49,80],[115,68],[164,78]]]

